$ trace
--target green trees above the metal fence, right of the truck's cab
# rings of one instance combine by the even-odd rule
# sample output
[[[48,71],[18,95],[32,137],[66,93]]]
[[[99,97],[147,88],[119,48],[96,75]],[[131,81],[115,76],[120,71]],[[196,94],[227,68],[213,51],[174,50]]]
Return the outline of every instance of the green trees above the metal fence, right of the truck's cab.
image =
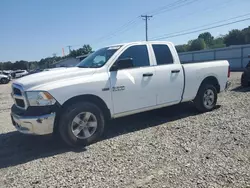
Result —
[[[243,44],[250,44],[250,26],[242,30],[233,29],[219,37],[214,37],[209,32],[201,33],[197,39],[190,40],[187,44],[177,45],[176,49],[178,52],[189,52]]]

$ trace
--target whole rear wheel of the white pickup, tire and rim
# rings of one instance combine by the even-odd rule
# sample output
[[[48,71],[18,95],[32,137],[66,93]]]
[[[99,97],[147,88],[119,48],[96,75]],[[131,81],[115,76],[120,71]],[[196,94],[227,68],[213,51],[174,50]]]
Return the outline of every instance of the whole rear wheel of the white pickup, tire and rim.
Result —
[[[217,90],[213,85],[203,84],[194,100],[200,112],[208,112],[215,108],[217,103]]]

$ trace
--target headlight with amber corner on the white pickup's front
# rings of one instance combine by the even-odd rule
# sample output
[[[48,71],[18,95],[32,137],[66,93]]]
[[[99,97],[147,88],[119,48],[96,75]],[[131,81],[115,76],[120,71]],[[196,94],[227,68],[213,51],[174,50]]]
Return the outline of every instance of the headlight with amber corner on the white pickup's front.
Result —
[[[48,106],[56,103],[54,97],[46,91],[28,91],[26,95],[30,106]]]

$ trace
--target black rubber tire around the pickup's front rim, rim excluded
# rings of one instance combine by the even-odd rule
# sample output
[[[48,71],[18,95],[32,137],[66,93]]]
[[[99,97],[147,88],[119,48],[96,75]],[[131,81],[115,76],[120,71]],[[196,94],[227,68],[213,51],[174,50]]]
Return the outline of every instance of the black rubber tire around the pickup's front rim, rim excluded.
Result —
[[[81,112],[90,112],[96,117],[97,120],[96,131],[92,136],[86,139],[77,138],[71,130],[73,119]],[[60,136],[66,142],[66,144],[72,147],[77,147],[87,146],[91,143],[96,142],[103,134],[104,126],[104,115],[98,106],[89,102],[79,102],[67,107],[67,109],[62,113],[58,128]]]

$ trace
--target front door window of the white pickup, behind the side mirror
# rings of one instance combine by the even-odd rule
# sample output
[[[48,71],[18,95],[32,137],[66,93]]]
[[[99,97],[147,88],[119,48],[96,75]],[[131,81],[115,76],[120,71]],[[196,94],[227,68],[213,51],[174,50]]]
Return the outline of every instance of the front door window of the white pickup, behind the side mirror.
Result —
[[[134,67],[145,67],[150,65],[148,49],[146,45],[136,45],[129,47],[120,55],[118,60],[126,58],[133,59]]]

